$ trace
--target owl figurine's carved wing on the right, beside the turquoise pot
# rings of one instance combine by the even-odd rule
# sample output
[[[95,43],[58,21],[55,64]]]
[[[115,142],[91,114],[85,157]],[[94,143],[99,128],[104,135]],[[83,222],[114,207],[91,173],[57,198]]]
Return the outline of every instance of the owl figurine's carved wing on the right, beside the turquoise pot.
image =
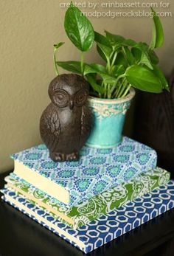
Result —
[[[82,147],[86,139],[88,139],[88,135],[91,131],[91,120],[92,114],[91,111],[83,105],[82,107],[82,115],[81,115],[81,135],[80,135],[80,146]]]

